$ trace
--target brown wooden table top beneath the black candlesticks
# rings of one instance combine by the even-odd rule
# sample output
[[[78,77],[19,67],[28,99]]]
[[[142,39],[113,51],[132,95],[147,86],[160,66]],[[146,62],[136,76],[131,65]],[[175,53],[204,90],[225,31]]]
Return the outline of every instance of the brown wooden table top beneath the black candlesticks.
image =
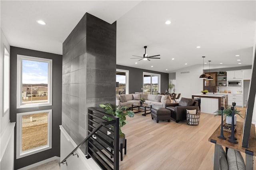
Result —
[[[226,122],[224,121],[223,124]],[[221,126],[221,125],[220,125]],[[249,148],[242,147],[242,138],[243,138],[243,129],[244,129],[244,123],[243,122],[236,122],[236,132],[235,137],[237,138],[238,143],[231,143],[228,142],[228,136],[231,135],[230,132],[223,131],[223,135],[227,138],[220,139],[218,136],[220,136],[220,126],[214,131],[212,136],[208,139],[209,142],[212,142],[211,140],[216,140],[216,144],[232,148],[234,150],[239,150],[240,152],[244,152],[245,150],[248,150],[250,152],[253,152],[253,155],[256,156],[256,134],[255,134],[255,125],[251,124],[251,130],[250,130],[250,139],[249,139]]]

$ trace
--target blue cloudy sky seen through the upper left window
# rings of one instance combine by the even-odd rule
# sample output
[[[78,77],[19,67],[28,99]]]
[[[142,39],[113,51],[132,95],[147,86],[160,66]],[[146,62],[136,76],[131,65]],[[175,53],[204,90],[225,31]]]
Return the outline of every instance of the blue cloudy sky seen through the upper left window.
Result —
[[[48,84],[48,63],[22,60],[22,84]]]

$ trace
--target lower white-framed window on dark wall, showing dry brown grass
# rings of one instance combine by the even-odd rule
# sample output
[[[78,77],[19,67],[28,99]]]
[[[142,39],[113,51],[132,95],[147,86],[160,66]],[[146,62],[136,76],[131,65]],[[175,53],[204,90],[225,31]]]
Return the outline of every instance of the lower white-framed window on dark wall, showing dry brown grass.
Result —
[[[17,114],[16,157],[52,148],[52,110]]]

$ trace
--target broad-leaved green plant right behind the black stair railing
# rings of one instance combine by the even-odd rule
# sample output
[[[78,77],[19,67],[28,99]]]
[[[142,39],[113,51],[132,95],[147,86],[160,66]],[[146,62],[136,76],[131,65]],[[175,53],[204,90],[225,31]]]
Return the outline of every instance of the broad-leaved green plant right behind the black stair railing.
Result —
[[[113,115],[116,117],[119,117],[119,138],[124,137],[124,134],[122,133],[121,128],[128,124],[128,121],[126,121],[126,116],[128,117],[134,117],[134,112],[133,111],[128,111],[128,107],[126,106],[112,106],[109,103],[106,104],[100,104],[101,108],[105,109],[105,113],[109,114],[109,115]],[[108,121],[112,121],[113,119],[111,117],[108,116],[103,116],[103,119],[108,119]]]

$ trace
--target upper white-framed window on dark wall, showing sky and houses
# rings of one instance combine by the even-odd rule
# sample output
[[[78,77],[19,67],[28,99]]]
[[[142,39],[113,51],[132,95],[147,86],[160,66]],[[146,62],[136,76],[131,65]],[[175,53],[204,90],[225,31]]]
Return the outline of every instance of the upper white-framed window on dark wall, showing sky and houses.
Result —
[[[52,59],[17,55],[17,108],[52,105]]]

